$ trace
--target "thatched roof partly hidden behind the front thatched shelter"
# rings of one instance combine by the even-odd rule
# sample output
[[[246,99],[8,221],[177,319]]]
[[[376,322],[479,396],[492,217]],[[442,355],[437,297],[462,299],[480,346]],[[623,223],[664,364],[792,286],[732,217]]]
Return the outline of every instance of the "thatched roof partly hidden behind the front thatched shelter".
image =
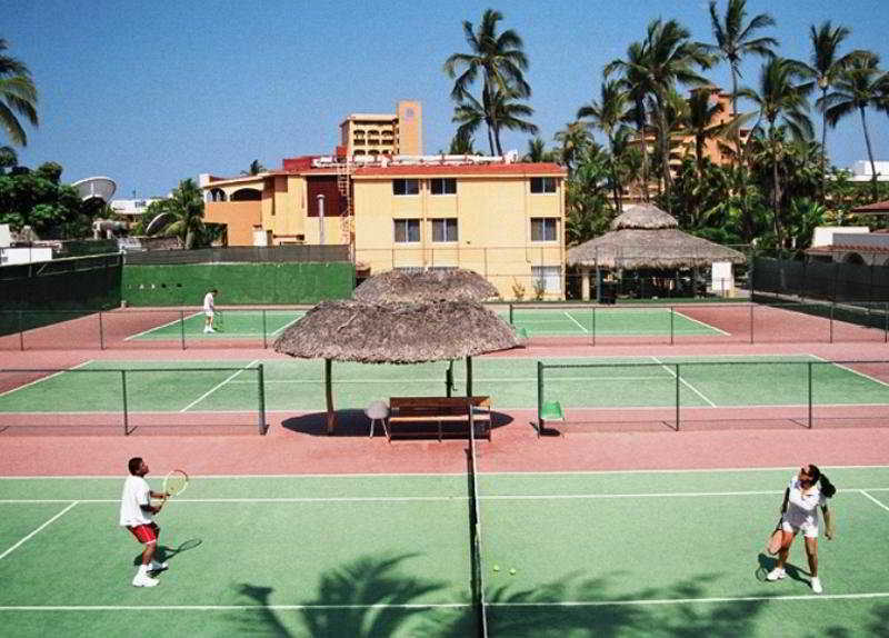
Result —
[[[354,289],[360,301],[482,301],[497,297],[497,288],[471,270],[389,270],[374,275]]]

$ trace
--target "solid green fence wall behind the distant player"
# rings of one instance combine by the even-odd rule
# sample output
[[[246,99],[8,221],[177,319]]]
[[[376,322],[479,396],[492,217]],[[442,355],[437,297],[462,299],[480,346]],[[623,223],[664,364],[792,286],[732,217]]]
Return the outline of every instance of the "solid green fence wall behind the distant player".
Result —
[[[200,263],[123,268],[121,298],[129,306],[194,306],[216,288],[216,302],[317,303],[347,299],[354,288],[349,262]]]

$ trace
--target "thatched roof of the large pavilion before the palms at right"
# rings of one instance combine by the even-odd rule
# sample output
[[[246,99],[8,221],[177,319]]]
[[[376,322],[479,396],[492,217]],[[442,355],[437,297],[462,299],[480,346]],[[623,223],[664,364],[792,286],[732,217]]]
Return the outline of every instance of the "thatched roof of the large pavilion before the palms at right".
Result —
[[[743,263],[743,253],[682,232],[676,218],[651,205],[629,206],[611,232],[568,249],[569,266],[677,269],[715,261]]]

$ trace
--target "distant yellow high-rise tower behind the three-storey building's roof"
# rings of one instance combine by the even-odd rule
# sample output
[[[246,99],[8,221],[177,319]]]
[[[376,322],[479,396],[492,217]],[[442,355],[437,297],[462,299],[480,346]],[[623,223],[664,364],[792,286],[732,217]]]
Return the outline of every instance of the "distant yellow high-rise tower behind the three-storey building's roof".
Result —
[[[344,157],[419,156],[423,152],[420,102],[398,102],[398,113],[352,113],[340,124]],[[339,153],[338,153],[339,154]]]

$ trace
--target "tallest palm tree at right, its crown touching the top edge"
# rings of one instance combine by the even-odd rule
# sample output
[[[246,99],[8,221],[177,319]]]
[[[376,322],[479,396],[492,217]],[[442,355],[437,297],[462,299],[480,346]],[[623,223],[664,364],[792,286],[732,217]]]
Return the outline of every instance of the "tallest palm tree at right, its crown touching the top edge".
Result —
[[[747,0],[729,0],[726,16],[720,18],[716,0],[710,0],[710,27],[716,46],[708,44],[707,50],[725,60],[731,68],[731,110],[738,114],[738,79],[741,77],[741,60],[747,54],[761,57],[773,56],[772,49],[778,47],[775,38],[755,38],[756,31],[775,26],[775,19],[768,13],[755,16],[747,24]],[[737,158],[741,157],[741,134],[735,137]]]

